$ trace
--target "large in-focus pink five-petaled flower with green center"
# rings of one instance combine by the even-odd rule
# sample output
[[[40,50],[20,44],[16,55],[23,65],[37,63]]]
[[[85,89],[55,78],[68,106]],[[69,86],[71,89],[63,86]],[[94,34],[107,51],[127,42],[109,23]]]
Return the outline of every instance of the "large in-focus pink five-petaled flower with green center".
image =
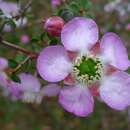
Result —
[[[93,111],[93,94],[98,95],[97,92],[113,109],[123,110],[130,105],[130,76],[123,72],[130,66],[127,50],[115,33],[108,32],[99,43],[98,40],[95,21],[76,17],[63,27],[64,46],[46,47],[37,59],[39,74],[49,82],[65,80],[71,75],[74,80],[68,80],[70,86],[60,91],[59,103],[81,117]],[[67,51],[77,55],[69,58]]]

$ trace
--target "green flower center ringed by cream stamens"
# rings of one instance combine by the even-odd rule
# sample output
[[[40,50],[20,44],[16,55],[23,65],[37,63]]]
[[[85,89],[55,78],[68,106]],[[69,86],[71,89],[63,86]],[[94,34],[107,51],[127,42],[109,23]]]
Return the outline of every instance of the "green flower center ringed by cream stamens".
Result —
[[[77,81],[91,84],[101,79],[103,65],[94,56],[77,57],[73,64],[73,74]]]

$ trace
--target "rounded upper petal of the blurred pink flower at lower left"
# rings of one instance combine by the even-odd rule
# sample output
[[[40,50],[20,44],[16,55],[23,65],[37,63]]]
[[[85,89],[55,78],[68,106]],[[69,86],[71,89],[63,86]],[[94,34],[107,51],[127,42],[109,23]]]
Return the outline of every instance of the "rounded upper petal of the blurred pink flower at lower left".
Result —
[[[40,82],[39,80],[27,73],[21,73],[19,75],[20,80],[21,80],[21,88],[23,91],[28,91],[28,92],[39,92],[40,91]]]

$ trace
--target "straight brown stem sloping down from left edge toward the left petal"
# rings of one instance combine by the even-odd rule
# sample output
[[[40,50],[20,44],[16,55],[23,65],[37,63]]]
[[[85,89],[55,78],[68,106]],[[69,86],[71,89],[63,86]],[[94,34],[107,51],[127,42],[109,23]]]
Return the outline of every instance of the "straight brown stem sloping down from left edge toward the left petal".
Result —
[[[13,43],[8,42],[8,41],[2,40],[1,43],[3,45],[6,45],[6,46],[8,46],[10,48],[15,49],[16,51],[20,51],[20,52],[22,52],[22,53],[24,53],[26,55],[29,55],[30,58],[36,58],[37,57],[36,53],[30,52],[30,51],[26,50],[25,48],[19,47],[19,46],[13,44]]]

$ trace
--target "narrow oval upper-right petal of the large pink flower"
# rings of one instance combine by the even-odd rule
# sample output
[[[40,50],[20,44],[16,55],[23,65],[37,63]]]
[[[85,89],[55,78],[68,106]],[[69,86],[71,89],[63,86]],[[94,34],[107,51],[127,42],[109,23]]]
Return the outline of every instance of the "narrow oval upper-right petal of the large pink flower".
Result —
[[[101,39],[100,47],[105,62],[121,70],[130,66],[127,50],[117,34],[106,33]]]

